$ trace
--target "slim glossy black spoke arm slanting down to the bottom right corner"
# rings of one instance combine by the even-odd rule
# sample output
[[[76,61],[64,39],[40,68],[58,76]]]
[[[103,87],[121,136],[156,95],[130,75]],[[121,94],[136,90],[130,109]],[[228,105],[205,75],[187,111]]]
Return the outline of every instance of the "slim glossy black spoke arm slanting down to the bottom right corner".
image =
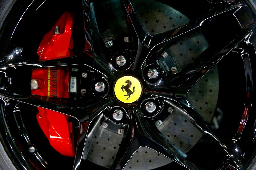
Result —
[[[219,145],[219,147],[233,160],[235,165],[241,169],[244,164],[242,162],[242,157],[240,153],[237,152],[239,150],[239,147],[236,145],[236,148],[233,148],[233,146],[235,145],[230,145],[233,142],[221,142],[220,139],[214,134],[209,124],[204,121],[204,119],[199,115],[197,110],[190,103],[187,96],[179,96],[177,97],[177,101],[174,101],[172,99],[165,100],[166,103],[170,104],[172,107],[175,108],[177,113],[183,115],[197,129],[199,129],[204,135],[206,135],[210,139],[210,141],[213,141],[214,143]]]

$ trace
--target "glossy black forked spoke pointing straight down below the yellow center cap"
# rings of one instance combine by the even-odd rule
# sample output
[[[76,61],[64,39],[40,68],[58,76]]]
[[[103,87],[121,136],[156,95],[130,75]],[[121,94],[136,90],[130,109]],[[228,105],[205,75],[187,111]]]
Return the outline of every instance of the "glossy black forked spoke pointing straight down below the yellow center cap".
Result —
[[[189,169],[200,169],[193,163],[187,161],[185,159],[187,155],[168,141],[156,126],[142,119],[143,117],[139,110],[133,108],[130,115],[130,133],[126,134],[123,138],[116,159],[112,165],[113,169],[123,169],[134,152],[140,147],[148,147]]]

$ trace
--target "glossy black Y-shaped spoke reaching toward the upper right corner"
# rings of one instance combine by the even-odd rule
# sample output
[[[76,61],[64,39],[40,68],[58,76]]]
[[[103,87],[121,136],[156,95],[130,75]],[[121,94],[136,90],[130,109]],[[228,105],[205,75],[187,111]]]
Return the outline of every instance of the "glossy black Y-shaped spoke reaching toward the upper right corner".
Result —
[[[189,35],[192,32],[208,30],[209,28],[216,26],[215,24],[217,23],[223,23],[222,24],[223,26],[220,24],[219,27],[222,26],[223,29],[226,29],[225,28],[226,21],[223,20],[223,18],[226,18],[229,20],[230,23],[232,23],[235,31],[233,30],[228,33],[230,34],[229,36],[234,37],[234,39],[227,42],[226,47],[223,46],[225,48],[223,49],[220,48],[220,53],[221,55],[223,55],[223,52],[228,50],[228,48],[234,48],[234,46],[230,47],[230,44],[235,44],[235,42],[237,43],[237,40],[236,40],[237,34],[239,35],[238,37],[240,38],[240,41],[241,41],[241,36],[244,38],[245,34],[246,33],[248,34],[248,31],[246,32],[247,28],[252,28],[255,22],[248,7],[241,5],[241,6],[234,6],[226,11],[222,11],[212,16],[201,18],[197,21],[192,21],[184,26],[181,26],[173,30],[169,30],[164,33],[150,35],[148,34],[147,31],[145,31],[146,29],[144,28],[143,24],[140,22],[140,19],[136,15],[136,11],[132,6],[132,2],[130,2],[129,0],[126,0],[123,2],[123,4],[127,12],[127,16],[128,16],[127,19],[132,23],[132,26],[138,37],[138,49],[135,57],[135,62],[132,68],[134,73],[142,69],[146,61],[148,60],[148,58],[156,54],[157,51],[170,47],[172,44],[176,43],[178,40],[180,40],[184,36]],[[242,18],[241,16],[244,16],[244,15],[247,15],[247,17]],[[221,30],[220,28],[218,29]],[[216,30],[216,33],[217,32],[218,30]],[[216,33],[214,33],[213,36]],[[215,37],[212,37],[212,38],[215,38]],[[209,62],[210,60],[214,60],[213,58],[215,57],[216,57],[215,55],[212,55],[211,57],[207,56],[202,61],[206,63],[206,62]],[[214,62],[216,62],[216,59]],[[198,63],[194,63],[194,65],[198,67]],[[197,71],[195,69],[191,70],[191,66],[189,66],[189,68],[190,70],[188,69],[183,70],[182,74],[188,75],[188,77],[190,77],[192,75],[191,73],[195,73]]]

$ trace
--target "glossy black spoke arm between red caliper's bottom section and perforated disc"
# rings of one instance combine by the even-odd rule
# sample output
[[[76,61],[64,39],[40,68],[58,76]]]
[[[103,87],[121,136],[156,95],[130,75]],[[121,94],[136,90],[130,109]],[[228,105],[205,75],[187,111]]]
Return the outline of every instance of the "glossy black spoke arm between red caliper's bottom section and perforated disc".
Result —
[[[86,159],[88,151],[92,144],[92,139],[95,133],[100,128],[100,120],[103,117],[102,112],[110,108],[112,104],[113,101],[108,100],[108,102],[90,110],[89,116],[86,119],[79,121],[78,142],[73,166],[74,170],[79,169],[81,161]]]

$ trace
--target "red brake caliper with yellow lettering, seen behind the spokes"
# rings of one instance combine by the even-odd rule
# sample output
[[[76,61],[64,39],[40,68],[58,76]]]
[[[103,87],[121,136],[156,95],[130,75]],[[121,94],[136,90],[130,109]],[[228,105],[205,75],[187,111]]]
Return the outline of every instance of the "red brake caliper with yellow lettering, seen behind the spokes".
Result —
[[[73,15],[65,12],[45,34],[37,50],[39,61],[68,57],[73,54]],[[69,69],[48,67],[32,70],[32,94],[69,98]],[[38,108],[37,121],[50,145],[64,156],[75,156],[72,122],[67,115]]]

